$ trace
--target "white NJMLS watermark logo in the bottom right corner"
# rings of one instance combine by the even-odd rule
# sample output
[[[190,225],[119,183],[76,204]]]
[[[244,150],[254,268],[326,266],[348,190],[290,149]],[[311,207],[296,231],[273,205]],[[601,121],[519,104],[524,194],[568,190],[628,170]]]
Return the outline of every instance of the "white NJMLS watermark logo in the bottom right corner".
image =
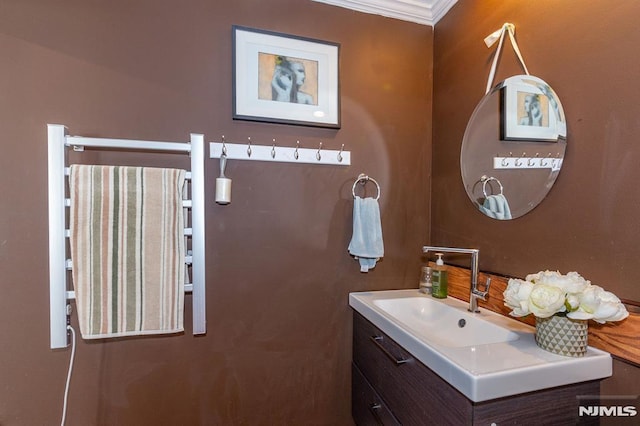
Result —
[[[578,403],[580,423],[596,417],[633,419],[633,424],[638,421],[638,395],[578,396]]]

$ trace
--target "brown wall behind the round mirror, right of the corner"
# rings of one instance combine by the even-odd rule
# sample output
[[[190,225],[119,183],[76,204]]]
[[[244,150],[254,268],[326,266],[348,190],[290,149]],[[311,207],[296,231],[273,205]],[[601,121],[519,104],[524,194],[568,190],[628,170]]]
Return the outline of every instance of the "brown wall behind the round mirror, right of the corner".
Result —
[[[640,3],[632,0],[459,0],[435,30],[431,242],[480,248],[480,268],[524,277],[578,271],[640,301]],[[546,199],[508,222],[480,214],[466,196],[459,156],[497,45],[483,39],[516,25],[529,71],[558,93],[567,153]],[[494,83],[523,74],[505,40]],[[614,363],[604,392],[637,394],[640,369]]]

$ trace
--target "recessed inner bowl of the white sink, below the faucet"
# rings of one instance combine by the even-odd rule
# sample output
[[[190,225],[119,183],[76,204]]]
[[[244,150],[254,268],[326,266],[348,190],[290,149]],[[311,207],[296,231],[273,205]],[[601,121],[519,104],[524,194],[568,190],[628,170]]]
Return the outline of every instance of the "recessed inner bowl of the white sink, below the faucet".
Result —
[[[446,347],[486,345],[516,340],[518,334],[482,316],[426,297],[377,299],[374,305],[425,341]]]

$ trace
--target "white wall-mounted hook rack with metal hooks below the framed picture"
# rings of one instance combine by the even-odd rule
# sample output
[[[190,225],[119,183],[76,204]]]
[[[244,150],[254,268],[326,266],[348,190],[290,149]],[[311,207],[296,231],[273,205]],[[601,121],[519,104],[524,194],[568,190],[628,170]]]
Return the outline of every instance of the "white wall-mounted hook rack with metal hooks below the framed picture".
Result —
[[[322,142],[317,148],[301,148],[299,144],[296,147],[284,147],[276,145],[275,142],[271,145],[255,145],[250,139],[246,144],[210,142],[209,158],[220,158],[223,149],[229,160],[351,165],[351,152],[344,149],[324,149]]]

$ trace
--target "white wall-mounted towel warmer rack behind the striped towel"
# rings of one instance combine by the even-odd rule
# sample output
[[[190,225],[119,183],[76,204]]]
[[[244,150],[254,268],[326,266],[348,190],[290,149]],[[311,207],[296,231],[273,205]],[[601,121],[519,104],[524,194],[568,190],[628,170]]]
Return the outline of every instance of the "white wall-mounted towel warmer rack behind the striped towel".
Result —
[[[67,324],[70,320],[69,300],[75,298],[69,290],[71,260],[67,258],[66,238],[67,208],[66,177],[68,175],[67,148],[82,151],[85,147],[120,150],[145,150],[184,152],[191,157],[191,200],[184,200],[184,207],[191,209],[191,227],[185,227],[185,235],[191,238],[191,250],[185,263],[191,264],[191,283],[185,283],[185,292],[192,293],[193,334],[206,333],[205,258],[204,258],[204,136],[191,134],[190,142],[157,142],[129,139],[102,139],[68,136],[67,128],[60,124],[48,124],[49,160],[49,300],[51,349],[69,345]]]

